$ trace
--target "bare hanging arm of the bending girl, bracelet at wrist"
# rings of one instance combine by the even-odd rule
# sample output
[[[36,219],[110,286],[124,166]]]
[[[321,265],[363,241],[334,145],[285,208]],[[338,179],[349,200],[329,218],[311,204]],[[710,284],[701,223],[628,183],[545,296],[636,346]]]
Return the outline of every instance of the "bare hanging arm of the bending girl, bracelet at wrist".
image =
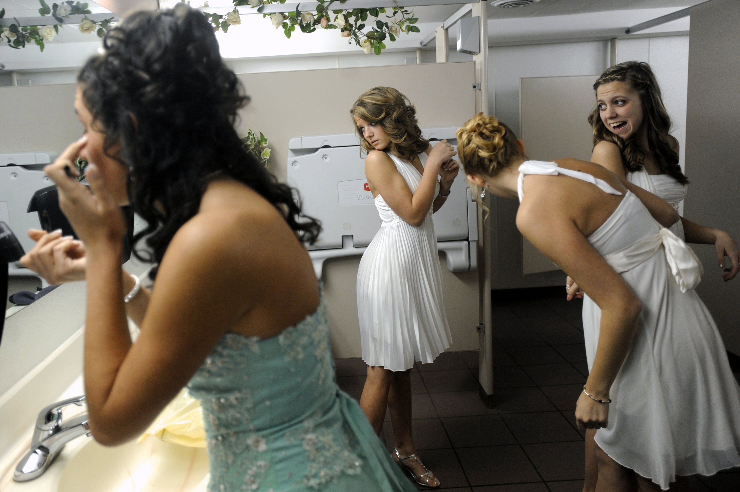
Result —
[[[599,345],[586,387],[593,397],[608,400],[611,385],[630,350],[642,304],[579,231],[569,215],[570,206],[549,198],[528,206],[522,203],[517,226],[539,251],[573,277],[602,310]],[[579,425],[604,427],[607,416],[607,405],[581,394],[576,405]]]

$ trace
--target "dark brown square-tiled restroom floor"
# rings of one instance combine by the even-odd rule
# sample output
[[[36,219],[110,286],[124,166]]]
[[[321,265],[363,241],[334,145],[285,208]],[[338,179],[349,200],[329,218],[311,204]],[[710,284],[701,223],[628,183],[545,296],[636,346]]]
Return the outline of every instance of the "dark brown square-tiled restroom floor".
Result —
[[[580,310],[559,288],[494,297],[494,408],[478,396],[477,351],[414,367],[414,440],[445,491],[582,491],[583,437],[573,419],[588,374]],[[365,364],[336,362],[340,387],[359,400]],[[390,451],[387,416],[382,437]],[[692,481],[695,492],[737,492],[740,470]]]

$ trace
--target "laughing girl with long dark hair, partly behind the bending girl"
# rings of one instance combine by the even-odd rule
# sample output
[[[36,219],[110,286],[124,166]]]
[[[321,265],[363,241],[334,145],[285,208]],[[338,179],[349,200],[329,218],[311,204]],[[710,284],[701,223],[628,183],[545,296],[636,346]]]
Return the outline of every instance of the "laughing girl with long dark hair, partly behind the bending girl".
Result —
[[[596,107],[588,117],[593,129],[591,162],[670,203],[676,210],[686,197],[688,180],[679,166],[679,143],[670,135],[670,117],[650,65],[625,61],[608,68],[593,84]],[[670,231],[687,243],[714,244],[720,268],[729,264],[723,278],[732,280],[740,269],[737,245],[727,232],[681,218]],[[577,286],[571,280],[569,297]],[[583,322],[597,323],[598,308],[585,298]],[[595,431],[586,432],[584,491],[596,490]]]

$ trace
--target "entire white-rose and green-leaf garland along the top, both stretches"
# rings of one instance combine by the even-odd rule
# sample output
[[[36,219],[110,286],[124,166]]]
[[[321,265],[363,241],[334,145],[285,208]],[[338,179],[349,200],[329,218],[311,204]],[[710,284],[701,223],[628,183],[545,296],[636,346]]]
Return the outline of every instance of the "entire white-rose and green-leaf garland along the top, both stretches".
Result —
[[[69,18],[70,15],[84,15],[84,18],[79,24],[79,30],[84,34],[95,31],[98,37],[102,38],[115,23],[112,17],[103,21],[92,21],[90,18],[87,18],[87,14],[91,12],[87,8],[87,4],[80,3],[79,1],[62,1],[59,4],[52,4],[51,7],[49,7],[45,0],[38,1],[41,4],[38,13],[41,16],[51,15],[59,24],[64,24],[64,18]],[[376,55],[380,55],[386,49],[386,44],[383,42],[386,39],[396,41],[396,38],[401,33],[420,32],[419,28],[414,25],[419,19],[414,17],[414,13],[410,10],[399,7],[395,0],[396,7],[391,7],[391,9],[383,7],[332,9],[332,5],[337,2],[339,2],[337,7],[343,7],[347,0],[317,1],[318,4],[315,13],[300,12],[299,8],[296,7],[295,12],[265,13],[263,14],[263,18],[269,16],[275,29],[282,28],[286,38],[290,38],[291,34],[295,32],[296,26],[303,33],[313,33],[317,29],[338,29],[340,36],[350,38],[348,41],[350,44],[354,40],[354,44],[362,48],[365,53],[375,53]],[[206,19],[212,24],[215,30],[222,30],[226,33],[229,30],[229,26],[241,24],[239,11],[237,10],[239,6],[249,5],[252,8],[258,8],[269,4],[284,4],[286,0],[232,0],[232,2],[234,4],[234,10],[227,14],[203,12],[203,15],[206,16]],[[190,2],[186,0],[186,3],[189,4]],[[208,2],[206,1],[201,8],[209,8]],[[0,18],[3,18],[4,15],[5,10],[0,10]],[[383,15],[385,19],[380,18]],[[334,18],[333,20],[332,17]],[[10,24],[10,27],[5,27],[1,30],[0,42],[6,41],[8,46],[16,49],[24,48],[26,44],[33,42],[41,51],[44,51],[44,41],[52,41],[54,39],[59,33],[59,24],[41,27],[19,27],[18,24]]]

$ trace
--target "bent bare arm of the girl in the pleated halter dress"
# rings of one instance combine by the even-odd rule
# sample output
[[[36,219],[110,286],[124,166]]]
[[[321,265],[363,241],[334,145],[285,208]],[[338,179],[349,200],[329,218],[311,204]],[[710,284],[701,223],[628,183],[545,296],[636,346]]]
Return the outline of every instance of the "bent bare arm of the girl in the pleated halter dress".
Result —
[[[453,155],[454,150],[447,141],[441,141],[434,146],[427,158],[421,182],[414,193],[411,193],[406,180],[386,152],[372,150],[368,154],[365,160],[365,175],[370,186],[383,196],[388,206],[400,218],[418,227],[424,222],[434,201],[434,189],[437,186],[440,166]]]

